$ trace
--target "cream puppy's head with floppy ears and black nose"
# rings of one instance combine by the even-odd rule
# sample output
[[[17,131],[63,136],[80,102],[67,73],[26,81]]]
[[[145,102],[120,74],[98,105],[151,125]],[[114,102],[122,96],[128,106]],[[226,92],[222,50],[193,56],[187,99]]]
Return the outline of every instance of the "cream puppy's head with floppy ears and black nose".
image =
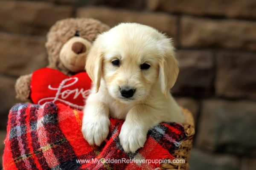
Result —
[[[179,72],[174,55],[172,40],[156,29],[122,23],[96,38],[85,68],[96,92],[103,79],[113,98],[141,100],[153,85],[169,93]]]

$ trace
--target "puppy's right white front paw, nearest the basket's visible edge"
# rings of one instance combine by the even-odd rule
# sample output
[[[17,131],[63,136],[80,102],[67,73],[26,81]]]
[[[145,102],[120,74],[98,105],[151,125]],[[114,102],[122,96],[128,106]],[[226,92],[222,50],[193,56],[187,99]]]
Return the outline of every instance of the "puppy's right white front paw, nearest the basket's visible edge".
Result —
[[[128,125],[125,123],[122,125],[121,132],[119,134],[120,144],[126,153],[135,153],[146,142],[147,130],[140,126]]]

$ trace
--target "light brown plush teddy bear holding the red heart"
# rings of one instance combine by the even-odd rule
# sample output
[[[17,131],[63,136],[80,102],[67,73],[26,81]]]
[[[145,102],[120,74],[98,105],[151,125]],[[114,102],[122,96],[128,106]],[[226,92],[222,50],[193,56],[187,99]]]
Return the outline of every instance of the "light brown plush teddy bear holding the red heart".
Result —
[[[92,18],[68,18],[57,21],[50,28],[45,43],[49,61],[47,67],[61,71],[67,76],[84,71],[85,60],[93,40],[97,34],[109,29],[106,24]],[[17,99],[31,99],[32,75],[23,75],[17,79]]]

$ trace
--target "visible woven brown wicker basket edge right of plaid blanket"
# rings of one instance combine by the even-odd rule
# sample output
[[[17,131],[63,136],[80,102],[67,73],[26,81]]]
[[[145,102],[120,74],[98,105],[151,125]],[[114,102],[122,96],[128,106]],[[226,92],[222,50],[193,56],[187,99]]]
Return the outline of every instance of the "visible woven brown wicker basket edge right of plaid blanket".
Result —
[[[188,161],[189,161],[190,150],[192,148],[193,136],[195,134],[195,123],[194,123],[194,118],[192,116],[192,113],[186,108],[182,108],[182,110],[186,117],[186,120],[183,123],[183,126],[186,130],[188,137],[182,142],[182,144],[180,144],[179,149],[175,151],[174,159],[184,159],[185,163],[161,164],[161,170],[188,170],[189,169]]]

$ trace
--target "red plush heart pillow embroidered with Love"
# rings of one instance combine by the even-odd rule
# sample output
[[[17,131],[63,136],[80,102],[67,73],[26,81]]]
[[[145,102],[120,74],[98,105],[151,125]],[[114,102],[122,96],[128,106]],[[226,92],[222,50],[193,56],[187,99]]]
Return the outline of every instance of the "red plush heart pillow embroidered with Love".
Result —
[[[52,68],[41,68],[32,74],[30,97],[39,105],[54,102],[81,110],[90,87],[91,79],[86,72],[69,77]]]

